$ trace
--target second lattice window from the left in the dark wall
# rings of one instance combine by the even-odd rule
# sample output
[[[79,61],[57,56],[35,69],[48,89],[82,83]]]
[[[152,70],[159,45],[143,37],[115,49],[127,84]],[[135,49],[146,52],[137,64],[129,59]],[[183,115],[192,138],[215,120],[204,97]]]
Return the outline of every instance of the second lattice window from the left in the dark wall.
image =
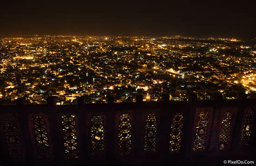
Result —
[[[46,123],[41,116],[36,116],[33,119],[33,125],[35,128],[35,140],[38,151],[38,158],[49,159],[50,155],[50,143],[46,129]]]

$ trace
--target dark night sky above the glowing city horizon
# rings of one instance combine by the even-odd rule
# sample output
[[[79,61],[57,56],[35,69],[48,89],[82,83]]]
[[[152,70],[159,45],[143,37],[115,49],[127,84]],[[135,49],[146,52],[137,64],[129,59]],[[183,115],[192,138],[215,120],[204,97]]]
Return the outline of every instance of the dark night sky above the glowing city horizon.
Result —
[[[255,1],[1,1],[0,35],[256,37]]]

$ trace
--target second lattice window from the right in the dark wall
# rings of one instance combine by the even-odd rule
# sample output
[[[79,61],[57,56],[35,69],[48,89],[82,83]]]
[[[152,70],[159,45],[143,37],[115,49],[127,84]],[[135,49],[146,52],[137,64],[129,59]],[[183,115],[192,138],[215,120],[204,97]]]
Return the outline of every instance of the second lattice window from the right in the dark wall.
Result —
[[[218,150],[228,149],[232,129],[232,114],[227,112],[224,114],[220,124],[220,132],[218,135]]]

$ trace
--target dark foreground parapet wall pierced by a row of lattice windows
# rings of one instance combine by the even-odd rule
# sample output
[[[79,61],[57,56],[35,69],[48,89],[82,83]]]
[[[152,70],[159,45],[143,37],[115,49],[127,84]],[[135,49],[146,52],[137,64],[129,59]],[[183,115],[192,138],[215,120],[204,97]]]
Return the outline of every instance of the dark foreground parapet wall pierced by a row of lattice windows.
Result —
[[[0,106],[0,164],[256,164],[256,100]],[[237,162],[239,162],[237,161]],[[228,165],[228,164],[224,164]]]

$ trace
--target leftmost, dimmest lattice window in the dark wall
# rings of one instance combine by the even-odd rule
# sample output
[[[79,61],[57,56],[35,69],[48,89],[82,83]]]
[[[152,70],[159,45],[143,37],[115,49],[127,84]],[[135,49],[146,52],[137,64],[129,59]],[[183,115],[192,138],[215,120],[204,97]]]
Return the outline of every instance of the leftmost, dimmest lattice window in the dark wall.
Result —
[[[2,114],[1,116],[9,158],[11,160],[20,160],[22,158],[22,146],[21,133],[17,125],[17,115]]]

